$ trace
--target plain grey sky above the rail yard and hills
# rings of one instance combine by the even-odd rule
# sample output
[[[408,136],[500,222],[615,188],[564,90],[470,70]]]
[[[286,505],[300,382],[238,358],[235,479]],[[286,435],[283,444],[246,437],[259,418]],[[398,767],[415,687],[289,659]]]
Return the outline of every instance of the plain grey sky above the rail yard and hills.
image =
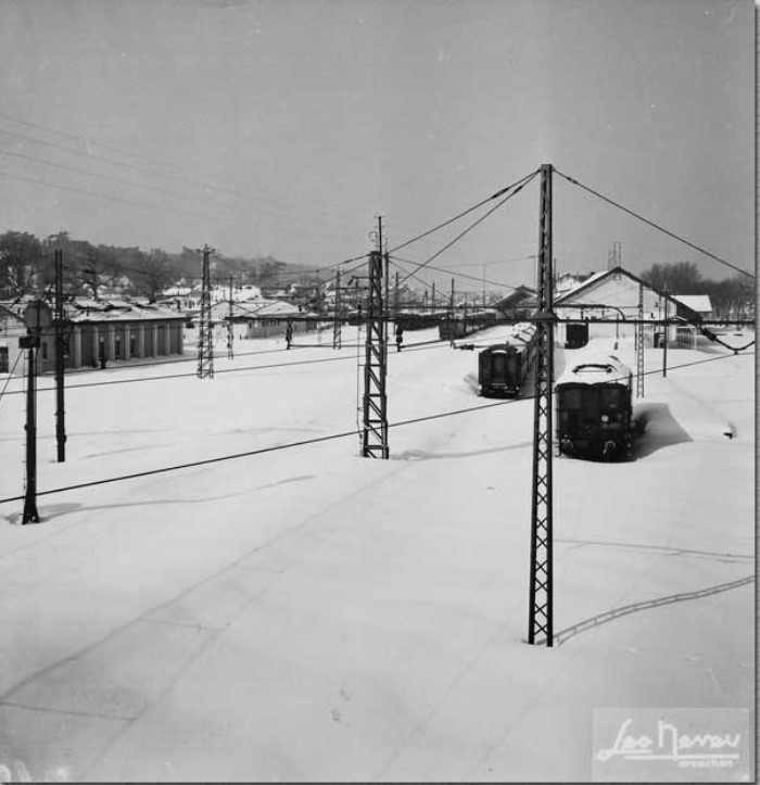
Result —
[[[377,214],[394,246],[550,163],[753,269],[751,0],[0,0],[0,231],[327,266],[372,248]],[[554,197],[560,273],[605,268],[620,242],[634,273],[733,275],[558,176]],[[425,261],[483,212],[400,255]],[[534,180],[433,264],[532,283],[537,216]]]

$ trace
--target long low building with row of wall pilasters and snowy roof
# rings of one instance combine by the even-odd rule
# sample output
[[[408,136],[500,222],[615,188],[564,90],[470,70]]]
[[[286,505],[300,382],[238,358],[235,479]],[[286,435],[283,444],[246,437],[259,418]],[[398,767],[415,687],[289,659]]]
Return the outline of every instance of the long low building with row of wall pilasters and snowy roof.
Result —
[[[80,299],[66,303],[64,316],[67,368],[100,368],[113,362],[183,353],[186,317],[177,312],[123,301]],[[50,305],[14,301],[0,303],[0,375],[22,372],[18,341],[27,334],[27,324],[39,331],[38,372],[54,369],[55,331]]]

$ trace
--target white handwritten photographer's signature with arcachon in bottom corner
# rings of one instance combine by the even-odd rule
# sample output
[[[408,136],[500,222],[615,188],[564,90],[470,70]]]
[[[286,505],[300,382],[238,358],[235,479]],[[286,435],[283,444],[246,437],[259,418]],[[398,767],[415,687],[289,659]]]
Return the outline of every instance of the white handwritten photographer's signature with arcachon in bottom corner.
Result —
[[[620,725],[611,747],[600,749],[596,759],[608,761],[620,757],[624,760],[671,760],[682,768],[730,768],[739,760],[737,751],[742,744],[740,733],[682,733],[674,722],[658,719],[657,732],[635,735],[630,733],[633,718]]]

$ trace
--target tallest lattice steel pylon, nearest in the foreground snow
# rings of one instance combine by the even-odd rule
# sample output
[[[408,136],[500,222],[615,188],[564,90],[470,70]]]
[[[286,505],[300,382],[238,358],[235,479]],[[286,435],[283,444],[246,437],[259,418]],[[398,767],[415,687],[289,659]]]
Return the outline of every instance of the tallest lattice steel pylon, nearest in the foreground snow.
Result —
[[[528,643],[552,646],[553,630],[553,485],[552,383],[554,377],[552,270],[552,164],[541,166],[535,389],[533,407],[533,484]]]

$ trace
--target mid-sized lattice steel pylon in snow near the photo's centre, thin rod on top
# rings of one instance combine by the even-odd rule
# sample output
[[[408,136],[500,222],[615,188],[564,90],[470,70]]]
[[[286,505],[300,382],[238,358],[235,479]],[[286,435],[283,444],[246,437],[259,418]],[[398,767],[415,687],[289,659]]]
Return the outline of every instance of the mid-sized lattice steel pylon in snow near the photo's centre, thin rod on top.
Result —
[[[364,406],[362,456],[388,458],[388,319],[383,307],[382,223],[378,218],[378,251],[369,254],[368,294],[364,364]],[[385,269],[385,274],[388,269]]]

